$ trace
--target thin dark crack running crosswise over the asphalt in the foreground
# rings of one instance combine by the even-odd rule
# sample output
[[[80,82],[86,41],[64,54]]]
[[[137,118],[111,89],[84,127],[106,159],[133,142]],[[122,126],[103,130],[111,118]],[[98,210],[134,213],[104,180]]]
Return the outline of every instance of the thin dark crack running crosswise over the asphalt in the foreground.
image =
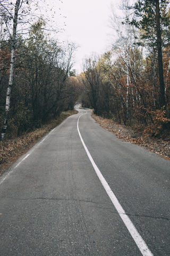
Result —
[[[78,202],[86,202],[86,203],[93,203],[93,204],[100,204],[91,200],[83,200],[83,199],[75,199],[75,198],[46,198],[46,197],[36,197],[36,198],[14,198],[14,197],[2,197],[2,198],[12,198],[15,200],[23,200],[23,201],[28,201],[28,200],[39,200],[39,199],[43,199],[43,200],[54,200],[54,201],[78,201]],[[113,211],[113,213],[118,213],[117,211]],[[165,218],[165,217],[154,217],[154,216],[149,216],[149,215],[140,215],[140,214],[130,214],[130,213],[123,213],[125,215],[128,215],[129,217],[145,217],[145,218],[151,218],[151,219],[160,219],[160,220],[167,220],[169,221],[169,218]]]

